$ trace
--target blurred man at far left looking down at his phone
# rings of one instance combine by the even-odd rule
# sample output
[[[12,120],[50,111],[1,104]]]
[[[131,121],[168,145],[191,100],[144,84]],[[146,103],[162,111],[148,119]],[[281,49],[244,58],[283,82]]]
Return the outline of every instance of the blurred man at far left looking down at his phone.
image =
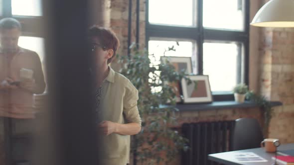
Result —
[[[20,34],[19,21],[14,18],[0,20],[0,122],[4,121],[3,117],[9,117],[4,122],[7,131],[0,132],[4,134],[5,140],[14,134],[31,133],[33,124],[28,119],[34,118],[36,113],[33,94],[42,93],[45,89],[39,56],[36,52],[18,46]],[[24,151],[20,155],[27,157],[28,153]]]

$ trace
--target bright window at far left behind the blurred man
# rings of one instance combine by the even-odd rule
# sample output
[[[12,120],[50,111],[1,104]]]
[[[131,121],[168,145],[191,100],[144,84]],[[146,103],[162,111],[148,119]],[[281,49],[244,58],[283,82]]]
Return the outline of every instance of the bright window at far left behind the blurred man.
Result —
[[[44,64],[42,0],[0,0],[0,18],[13,17],[22,25],[18,46],[35,51]],[[24,7],[25,6],[25,7]],[[43,66],[42,66],[43,67]],[[44,69],[44,68],[43,68]]]

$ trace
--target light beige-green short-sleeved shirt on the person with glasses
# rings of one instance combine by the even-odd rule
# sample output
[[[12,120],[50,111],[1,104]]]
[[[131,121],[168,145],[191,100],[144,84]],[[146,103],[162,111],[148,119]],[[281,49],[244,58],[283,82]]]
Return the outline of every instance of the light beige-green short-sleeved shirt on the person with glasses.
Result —
[[[116,123],[138,123],[141,125],[136,87],[123,75],[110,68],[102,84],[102,96],[99,109],[100,121],[109,120]],[[102,153],[101,165],[126,165],[130,157],[130,136],[112,133],[102,136],[99,148]]]

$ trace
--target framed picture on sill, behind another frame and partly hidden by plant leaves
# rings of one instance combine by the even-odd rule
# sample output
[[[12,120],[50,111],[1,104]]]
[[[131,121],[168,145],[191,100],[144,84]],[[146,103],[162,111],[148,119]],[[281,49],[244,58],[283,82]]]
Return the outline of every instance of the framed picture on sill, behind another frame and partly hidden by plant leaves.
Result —
[[[192,62],[190,57],[160,57],[162,63],[166,63],[166,60],[174,66],[175,71],[180,72],[181,70],[185,70],[187,75],[192,74]],[[181,102],[180,82],[170,83],[169,85],[174,89],[176,102]]]

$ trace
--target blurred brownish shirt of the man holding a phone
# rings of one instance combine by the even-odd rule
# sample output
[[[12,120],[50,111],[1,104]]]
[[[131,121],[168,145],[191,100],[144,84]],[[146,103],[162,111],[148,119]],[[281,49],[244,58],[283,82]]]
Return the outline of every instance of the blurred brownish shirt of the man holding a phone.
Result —
[[[45,88],[40,58],[36,52],[19,48],[14,54],[5,54],[0,50],[0,82],[5,78],[20,81],[20,69],[33,71],[36,83],[36,93],[42,93]],[[0,116],[12,118],[34,118],[33,93],[17,87],[0,89]]]

